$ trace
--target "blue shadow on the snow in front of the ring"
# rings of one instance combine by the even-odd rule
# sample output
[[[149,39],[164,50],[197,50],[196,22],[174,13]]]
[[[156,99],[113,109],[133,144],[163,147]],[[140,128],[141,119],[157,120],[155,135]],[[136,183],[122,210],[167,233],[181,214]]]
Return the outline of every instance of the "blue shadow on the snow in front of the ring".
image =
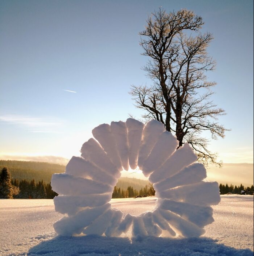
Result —
[[[55,237],[29,250],[29,256],[253,256],[250,249],[235,249],[201,238]]]

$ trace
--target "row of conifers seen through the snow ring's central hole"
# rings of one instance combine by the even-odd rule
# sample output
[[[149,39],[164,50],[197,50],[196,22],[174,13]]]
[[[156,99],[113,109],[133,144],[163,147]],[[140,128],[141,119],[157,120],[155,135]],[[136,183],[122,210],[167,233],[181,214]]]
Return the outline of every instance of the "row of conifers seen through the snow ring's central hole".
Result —
[[[141,188],[139,191],[136,189],[133,189],[133,187],[129,186],[126,190],[121,189],[118,187],[114,187],[114,191],[112,194],[112,198],[130,198],[130,197],[136,197],[136,196],[154,196],[155,190],[153,186],[145,186],[144,188]]]

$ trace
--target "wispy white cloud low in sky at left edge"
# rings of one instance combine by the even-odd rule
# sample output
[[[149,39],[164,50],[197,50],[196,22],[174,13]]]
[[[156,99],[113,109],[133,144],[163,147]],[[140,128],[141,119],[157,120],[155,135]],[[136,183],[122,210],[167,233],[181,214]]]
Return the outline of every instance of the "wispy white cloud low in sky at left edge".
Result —
[[[17,125],[25,130],[40,133],[59,133],[62,121],[56,118],[37,118],[23,115],[0,115],[0,121]]]

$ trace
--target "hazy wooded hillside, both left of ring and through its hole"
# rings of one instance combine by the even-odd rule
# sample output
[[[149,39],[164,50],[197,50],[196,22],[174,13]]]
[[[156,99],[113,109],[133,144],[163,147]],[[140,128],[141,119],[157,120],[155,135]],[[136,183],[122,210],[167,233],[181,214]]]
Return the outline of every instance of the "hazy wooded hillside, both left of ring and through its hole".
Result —
[[[39,182],[44,180],[49,183],[53,173],[61,173],[65,171],[65,166],[55,163],[32,162],[32,161],[16,161],[16,160],[0,160],[0,170],[7,167],[13,180],[35,180]],[[136,178],[121,177],[116,186],[126,190],[129,186],[133,189],[140,190],[149,185],[148,180],[140,180]]]

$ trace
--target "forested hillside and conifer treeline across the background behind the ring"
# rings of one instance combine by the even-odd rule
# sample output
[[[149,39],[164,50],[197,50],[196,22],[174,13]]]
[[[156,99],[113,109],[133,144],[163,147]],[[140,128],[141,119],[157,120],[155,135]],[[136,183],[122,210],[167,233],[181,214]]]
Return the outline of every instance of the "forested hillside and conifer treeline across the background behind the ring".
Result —
[[[65,171],[64,165],[28,162],[14,160],[0,160],[0,171],[6,167],[10,173],[10,182],[15,192],[14,198],[53,198],[57,195],[51,189],[50,181],[53,173]],[[17,189],[16,189],[17,188]],[[220,184],[220,194],[253,194],[251,187]],[[120,177],[112,198],[127,198],[135,196],[152,196],[155,191],[148,180]]]

